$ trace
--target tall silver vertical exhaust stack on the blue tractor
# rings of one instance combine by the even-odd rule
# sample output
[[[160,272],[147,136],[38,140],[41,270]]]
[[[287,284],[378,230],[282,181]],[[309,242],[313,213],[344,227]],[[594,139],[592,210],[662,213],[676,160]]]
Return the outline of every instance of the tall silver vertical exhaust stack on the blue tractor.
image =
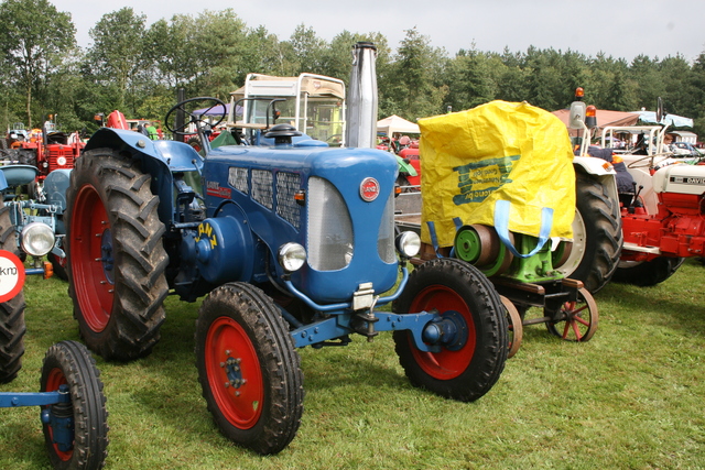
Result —
[[[352,72],[348,92],[345,145],[377,146],[377,46],[359,42],[352,46]]]

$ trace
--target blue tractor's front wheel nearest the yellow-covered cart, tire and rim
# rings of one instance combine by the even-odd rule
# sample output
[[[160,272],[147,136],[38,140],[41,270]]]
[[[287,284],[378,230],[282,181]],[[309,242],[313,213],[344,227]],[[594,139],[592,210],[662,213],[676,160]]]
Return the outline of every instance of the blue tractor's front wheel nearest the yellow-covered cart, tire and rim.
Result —
[[[394,311],[437,310],[443,317],[459,314],[467,339],[440,352],[416,348],[409,331],[394,331],[399,362],[412,385],[441,396],[473,402],[499,379],[508,354],[506,310],[488,278],[475,266],[456,259],[427,261],[409,276]]]

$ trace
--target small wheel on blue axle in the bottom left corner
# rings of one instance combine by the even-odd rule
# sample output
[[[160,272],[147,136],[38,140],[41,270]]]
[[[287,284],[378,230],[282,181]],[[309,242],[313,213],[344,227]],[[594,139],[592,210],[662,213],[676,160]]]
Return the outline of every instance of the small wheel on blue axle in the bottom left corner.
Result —
[[[85,346],[62,341],[44,357],[40,392],[70,400],[42,408],[44,441],[55,469],[99,469],[108,455],[108,411],[100,372]]]

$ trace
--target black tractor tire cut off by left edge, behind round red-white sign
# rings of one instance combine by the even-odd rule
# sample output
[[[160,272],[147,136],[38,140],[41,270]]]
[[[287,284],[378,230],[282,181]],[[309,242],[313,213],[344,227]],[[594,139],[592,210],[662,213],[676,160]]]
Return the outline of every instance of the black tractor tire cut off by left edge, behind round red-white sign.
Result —
[[[21,254],[10,208],[0,200],[0,250]],[[22,369],[24,354],[24,289],[0,304],[0,383],[12,382]]]

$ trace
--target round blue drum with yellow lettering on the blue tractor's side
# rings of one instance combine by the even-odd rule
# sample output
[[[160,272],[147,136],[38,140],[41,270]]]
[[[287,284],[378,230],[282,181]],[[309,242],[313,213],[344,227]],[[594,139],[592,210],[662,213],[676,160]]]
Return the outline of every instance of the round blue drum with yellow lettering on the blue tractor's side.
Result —
[[[232,203],[223,205],[217,217],[198,225],[193,254],[206,281],[220,285],[252,280],[257,250],[249,227],[245,211]]]

